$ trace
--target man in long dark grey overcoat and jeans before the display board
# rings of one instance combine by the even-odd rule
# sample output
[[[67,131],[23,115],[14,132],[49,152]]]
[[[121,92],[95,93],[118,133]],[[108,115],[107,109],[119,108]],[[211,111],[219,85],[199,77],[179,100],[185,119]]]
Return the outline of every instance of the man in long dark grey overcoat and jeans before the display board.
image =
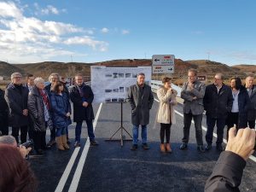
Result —
[[[128,92],[128,102],[131,105],[131,123],[133,125],[131,150],[137,149],[139,125],[142,125],[143,148],[148,149],[147,125],[149,123],[149,110],[152,108],[154,96],[151,87],[145,84],[144,73],[139,73],[137,75],[137,84],[131,85]]]

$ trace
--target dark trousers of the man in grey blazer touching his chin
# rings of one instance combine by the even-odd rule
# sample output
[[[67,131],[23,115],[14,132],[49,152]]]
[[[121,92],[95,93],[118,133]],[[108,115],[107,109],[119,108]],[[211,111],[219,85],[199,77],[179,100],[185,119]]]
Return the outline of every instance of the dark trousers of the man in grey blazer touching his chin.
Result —
[[[202,128],[201,128],[201,120],[202,120],[202,114],[199,115],[193,115],[192,113],[183,113],[183,143],[189,143],[189,130],[192,118],[195,122],[195,137],[196,137],[196,143],[197,145],[203,145],[202,140]]]

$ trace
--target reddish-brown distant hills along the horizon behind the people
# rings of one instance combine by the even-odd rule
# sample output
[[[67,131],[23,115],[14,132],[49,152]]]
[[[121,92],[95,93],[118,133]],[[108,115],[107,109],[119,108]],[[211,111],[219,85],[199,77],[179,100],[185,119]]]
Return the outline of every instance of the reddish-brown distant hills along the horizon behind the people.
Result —
[[[26,75],[26,73],[32,73],[34,76],[40,76],[44,79],[47,79],[49,74],[54,72],[60,73],[62,77],[73,77],[76,73],[83,73],[84,76],[90,76],[90,66],[138,67],[151,65],[152,61],[148,59],[113,60],[95,63],[44,61],[29,64],[9,64],[7,62],[0,61],[0,76],[3,76],[5,79],[9,79],[10,74],[14,72],[20,72],[24,75]],[[234,76],[241,77],[243,79],[247,74],[256,74],[255,65],[237,65],[230,67],[216,61],[183,61],[181,59],[175,59],[172,78],[174,80],[187,79],[186,75],[189,68],[196,68],[199,75],[207,75],[209,79],[212,79],[215,73],[224,73],[225,79],[230,79]],[[154,75],[153,78],[161,79],[162,76],[163,75]],[[170,76],[170,74],[168,74],[168,76]]]

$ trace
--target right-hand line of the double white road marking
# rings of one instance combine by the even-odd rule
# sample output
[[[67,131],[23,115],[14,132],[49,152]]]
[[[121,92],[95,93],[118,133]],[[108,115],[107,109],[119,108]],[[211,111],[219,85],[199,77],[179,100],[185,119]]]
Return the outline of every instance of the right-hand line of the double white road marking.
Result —
[[[97,124],[97,121],[99,119],[101,110],[102,110],[102,103],[101,103],[101,105],[100,105],[100,107],[99,107],[99,109],[96,113],[96,118],[93,122],[94,130],[96,128],[96,124]],[[85,143],[83,153],[81,154],[81,157],[80,157],[80,160],[79,160],[79,165],[77,166],[76,172],[73,175],[73,180],[72,180],[72,183],[71,183],[71,185],[68,189],[68,192],[76,192],[77,189],[78,189],[79,180],[80,180],[83,168],[84,168],[84,163],[85,163],[88,151],[89,151],[89,147],[90,147],[90,139],[89,139],[89,137],[87,137],[87,141]]]

